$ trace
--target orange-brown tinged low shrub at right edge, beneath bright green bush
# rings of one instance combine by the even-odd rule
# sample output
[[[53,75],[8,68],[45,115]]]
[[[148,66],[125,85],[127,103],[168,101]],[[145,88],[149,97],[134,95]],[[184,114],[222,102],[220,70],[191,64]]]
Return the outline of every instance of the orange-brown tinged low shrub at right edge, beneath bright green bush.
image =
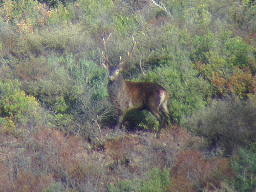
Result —
[[[209,54],[209,63],[195,62],[194,67],[212,84],[214,95],[235,95],[242,99],[253,92],[255,83],[248,67],[238,68],[213,52]]]

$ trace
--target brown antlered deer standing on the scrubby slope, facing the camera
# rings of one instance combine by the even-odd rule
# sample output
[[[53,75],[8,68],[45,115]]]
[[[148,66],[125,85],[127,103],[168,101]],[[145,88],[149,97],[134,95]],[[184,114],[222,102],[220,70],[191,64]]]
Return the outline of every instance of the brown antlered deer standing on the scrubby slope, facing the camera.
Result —
[[[111,33],[106,40],[103,37],[104,52],[102,51],[102,56],[106,62],[102,63],[102,66],[108,70],[108,96],[110,102],[116,106],[116,111],[119,115],[113,132],[119,129],[127,111],[142,111],[146,109],[159,121],[156,133],[156,137],[159,138],[164,121],[163,114],[172,123],[167,109],[169,94],[164,87],[157,83],[125,81],[121,72],[126,68],[126,61],[131,57],[136,42],[132,36],[133,46],[131,52],[128,52],[126,59],[123,61],[121,61],[121,56],[119,56],[118,63],[113,65],[109,61],[107,54],[107,43],[110,35]]]

